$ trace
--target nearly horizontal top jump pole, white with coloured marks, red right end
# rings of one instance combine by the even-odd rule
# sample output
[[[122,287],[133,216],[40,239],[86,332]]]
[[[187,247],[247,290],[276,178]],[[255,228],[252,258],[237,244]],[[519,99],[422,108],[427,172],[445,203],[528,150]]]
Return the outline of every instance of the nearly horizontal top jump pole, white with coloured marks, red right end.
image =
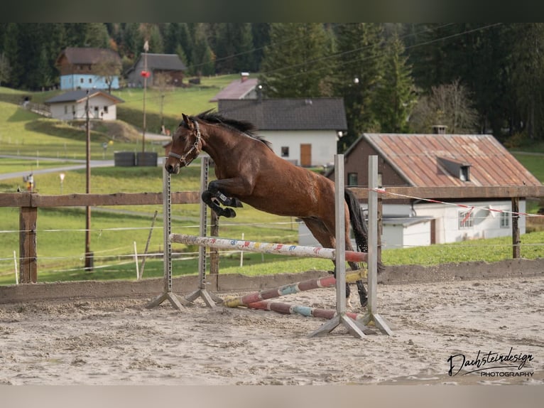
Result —
[[[289,255],[292,257],[310,257],[335,259],[336,249],[321,247],[305,247],[303,245],[273,244],[268,242],[254,242],[230,240],[218,237],[196,237],[195,235],[170,234],[170,242],[187,245],[200,245],[218,249],[232,249],[248,252],[262,252],[265,254]],[[345,251],[346,261],[366,262],[366,252]]]

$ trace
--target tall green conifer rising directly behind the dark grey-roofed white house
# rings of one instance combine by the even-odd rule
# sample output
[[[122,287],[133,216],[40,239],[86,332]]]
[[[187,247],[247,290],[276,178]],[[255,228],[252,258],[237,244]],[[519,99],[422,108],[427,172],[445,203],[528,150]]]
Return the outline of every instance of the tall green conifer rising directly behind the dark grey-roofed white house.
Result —
[[[272,23],[264,49],[261,84],[267,97],[320,97],[331,72],[322,23]]]

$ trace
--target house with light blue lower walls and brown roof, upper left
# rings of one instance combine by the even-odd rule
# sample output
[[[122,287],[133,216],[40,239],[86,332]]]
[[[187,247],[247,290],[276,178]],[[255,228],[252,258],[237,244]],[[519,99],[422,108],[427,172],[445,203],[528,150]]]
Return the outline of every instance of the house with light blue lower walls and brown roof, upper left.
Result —
[[[66,48],[55,65],[60,70],[60,89],[119,89],[121,58],[107,48]]]

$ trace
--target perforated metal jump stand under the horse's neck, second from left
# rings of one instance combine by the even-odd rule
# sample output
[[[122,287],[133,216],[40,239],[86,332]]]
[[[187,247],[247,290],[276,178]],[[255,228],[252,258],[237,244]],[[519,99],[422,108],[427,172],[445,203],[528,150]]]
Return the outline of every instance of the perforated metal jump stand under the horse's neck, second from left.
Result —
[[[208,186],[208,171],[210,169],[210,157],[202,156],[200,161],[200,193],[206,190]],[[207,205],[200,200],[200,235],[205,237],[207,234]],[[205,304],[214,308],[216,303],[221,303],[223,300],[207,291],[206,289],[206,247],[200,246],[198,250],[198,289],[189,294],[185,299],[194,301],[199,297]]]

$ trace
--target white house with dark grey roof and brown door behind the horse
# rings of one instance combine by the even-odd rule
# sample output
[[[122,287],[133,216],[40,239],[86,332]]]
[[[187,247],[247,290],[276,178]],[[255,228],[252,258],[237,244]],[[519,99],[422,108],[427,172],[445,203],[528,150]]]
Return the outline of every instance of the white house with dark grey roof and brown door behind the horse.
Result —
[[[347,129],[340,97],[218,100],[219,114],[251,122],[274,153],[298,166],[334,161],[339,132]]]

